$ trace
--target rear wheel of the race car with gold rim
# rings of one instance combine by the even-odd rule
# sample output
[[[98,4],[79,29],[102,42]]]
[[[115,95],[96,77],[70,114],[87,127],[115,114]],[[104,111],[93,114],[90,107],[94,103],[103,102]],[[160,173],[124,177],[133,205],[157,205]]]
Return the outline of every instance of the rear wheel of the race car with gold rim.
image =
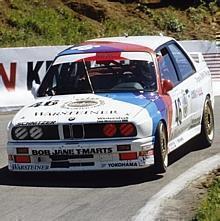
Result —
[[[212,145],[214,140],[214,131],[215,123],[212,102],[207,97],[203,108],[201,132],[197,137],[200,148],[207,148]]]

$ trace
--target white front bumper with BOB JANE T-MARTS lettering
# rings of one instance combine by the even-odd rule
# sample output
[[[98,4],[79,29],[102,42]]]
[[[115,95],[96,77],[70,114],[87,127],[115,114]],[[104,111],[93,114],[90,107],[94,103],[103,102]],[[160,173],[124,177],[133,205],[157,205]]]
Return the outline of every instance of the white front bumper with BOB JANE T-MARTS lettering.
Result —
[[[123,145],[130,146],[130,150],[119,150],[118,147]],[[27,152],[19,151],[21,149]],[[7,153],[11,171],[122,170],[154,164],[153,137],[86,142],[8,142]],[[22,157],[29,161],[17,161]]]

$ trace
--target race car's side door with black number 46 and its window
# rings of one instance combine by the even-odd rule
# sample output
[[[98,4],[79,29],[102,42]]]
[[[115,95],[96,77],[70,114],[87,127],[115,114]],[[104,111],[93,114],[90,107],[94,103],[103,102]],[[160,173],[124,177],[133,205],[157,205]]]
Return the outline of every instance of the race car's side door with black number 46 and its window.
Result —
[[[191,89],[190,83],[180,74],[177,62],[179,57],[178,59],[175,57],[176,51],[173,50],[172,44],[173,42],[164,45],[157,54],[161,57],[159,59],[161,78],[170,80],[174,85],[174,88],[168,92],[173,108],[170,139],[179,137],[178,142],[183,143],[181,135],[190,127],[191,122]]]

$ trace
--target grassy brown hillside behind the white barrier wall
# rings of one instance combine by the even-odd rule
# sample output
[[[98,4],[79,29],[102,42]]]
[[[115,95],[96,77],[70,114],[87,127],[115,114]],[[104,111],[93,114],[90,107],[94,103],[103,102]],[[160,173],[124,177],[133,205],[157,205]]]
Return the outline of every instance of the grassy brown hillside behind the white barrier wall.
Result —
[[[193,6],[146,2],[0,0],[0,47],[73,44],[124,33],[215,39],[220,30],[219,8],[213,2]]]

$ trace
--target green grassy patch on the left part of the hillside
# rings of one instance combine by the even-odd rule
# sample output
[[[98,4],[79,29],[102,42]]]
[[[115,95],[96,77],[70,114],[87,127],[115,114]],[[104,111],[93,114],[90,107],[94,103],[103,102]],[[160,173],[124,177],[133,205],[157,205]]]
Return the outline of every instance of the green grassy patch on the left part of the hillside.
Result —
[[[12,9],[6,15],[10,28],[0,26],[0,40],[8,46],[14,42],[19,46],[69,44],[96,35],[93,25],[86,21],[79,22],[67,8],[54,9],[46,5],[27,7],[22,5],[24,1],[11,2]],[[36,0],[34,2],[39,4]]]

